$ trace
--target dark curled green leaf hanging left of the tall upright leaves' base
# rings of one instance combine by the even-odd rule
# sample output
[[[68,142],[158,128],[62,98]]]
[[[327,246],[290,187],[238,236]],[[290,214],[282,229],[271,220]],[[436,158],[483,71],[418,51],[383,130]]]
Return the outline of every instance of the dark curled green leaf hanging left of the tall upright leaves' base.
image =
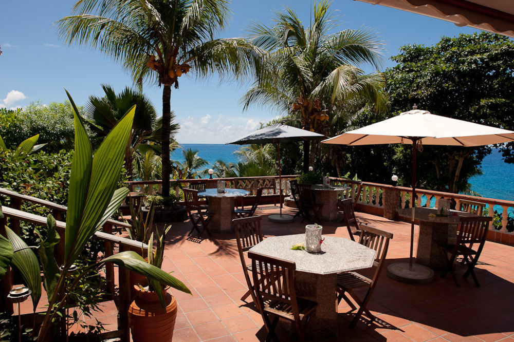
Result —
[[[57,233],[56,219],[54,219],[52,215],[47,216],[46,222],[48,226],[46,240],[43,240],[43,237],[38,230],[35,230],[35,234],[41,240],[38,254],[43,267],[43,273],[45,275],[43,278],[43,286],[45,287],[48,297],[51,297],[53,291],[56,289],[59,276],[61,275],[59,265],[53,255],[55,246],[59,243],[61,237],[59,236],[59,233]]]

